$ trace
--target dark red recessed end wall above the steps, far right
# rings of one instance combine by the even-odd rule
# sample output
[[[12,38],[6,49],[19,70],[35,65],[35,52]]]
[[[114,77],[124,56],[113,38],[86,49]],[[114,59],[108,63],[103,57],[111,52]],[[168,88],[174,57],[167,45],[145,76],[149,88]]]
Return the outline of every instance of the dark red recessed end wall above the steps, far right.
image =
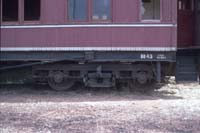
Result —
[[[179,48],[200,47],[200,0],[178,0]]]

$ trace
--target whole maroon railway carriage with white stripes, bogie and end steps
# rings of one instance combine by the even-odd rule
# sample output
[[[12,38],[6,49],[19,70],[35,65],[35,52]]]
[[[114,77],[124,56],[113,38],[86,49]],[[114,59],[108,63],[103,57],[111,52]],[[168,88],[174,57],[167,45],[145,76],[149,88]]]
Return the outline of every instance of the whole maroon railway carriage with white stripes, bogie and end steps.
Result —
[[[56,90],[197,80],[199,10],[199,0],[1,0],[1,70],[32,66]]]

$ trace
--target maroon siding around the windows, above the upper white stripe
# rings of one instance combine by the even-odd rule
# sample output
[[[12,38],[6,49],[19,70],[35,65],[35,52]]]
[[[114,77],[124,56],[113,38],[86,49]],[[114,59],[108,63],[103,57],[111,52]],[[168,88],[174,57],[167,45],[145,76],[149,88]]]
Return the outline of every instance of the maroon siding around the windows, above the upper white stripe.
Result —
[[[1,0],[2,3],[3,0]],[[3,25],[23,25],[23,24],[88,24],[88,23],[176,23],[177,22],[177,2],[176,0],[160,0],[160,20],[143,21],[141,18],[140,0],[110,0],[112,5],[111,18],[108,21],[92,20],[92,0],[88,4],[87,19],[85,21],[71,21],[68,17],[69,0],[40,0],[40,20],[24,21],[24,0],[19,1],[18,21],[2,22]],[[2,4],[1,4],[2,5]],[[2,8],[1,8],[2,9]]]

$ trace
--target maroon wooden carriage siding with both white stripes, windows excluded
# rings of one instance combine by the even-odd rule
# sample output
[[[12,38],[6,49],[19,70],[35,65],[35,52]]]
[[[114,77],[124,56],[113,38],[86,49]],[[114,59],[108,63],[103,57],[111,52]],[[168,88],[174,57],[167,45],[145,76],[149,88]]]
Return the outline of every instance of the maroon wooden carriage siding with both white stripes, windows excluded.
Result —
[[[175,0],[160,0],[160,19],[150,21],[141,18],[140,0],[111,0],[111,18],[108,21],[93,21],[91,3],[88,3],[87,20],[83,22],[69,20],[67,0],[40,2],[39,21],[23,20],[24,0],[19,0],[18,21],[2,21],[1,51],[43,51],[54,48],[66,51],[176,50]]]

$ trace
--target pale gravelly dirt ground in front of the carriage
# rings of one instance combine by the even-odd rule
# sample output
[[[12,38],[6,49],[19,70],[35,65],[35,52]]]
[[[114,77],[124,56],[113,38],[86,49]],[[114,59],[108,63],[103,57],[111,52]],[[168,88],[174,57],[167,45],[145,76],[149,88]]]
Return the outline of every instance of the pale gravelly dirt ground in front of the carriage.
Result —
[[[199,133],[200,86],[172,80],[141,93],[1,85],[0,133],[10,132]]]

